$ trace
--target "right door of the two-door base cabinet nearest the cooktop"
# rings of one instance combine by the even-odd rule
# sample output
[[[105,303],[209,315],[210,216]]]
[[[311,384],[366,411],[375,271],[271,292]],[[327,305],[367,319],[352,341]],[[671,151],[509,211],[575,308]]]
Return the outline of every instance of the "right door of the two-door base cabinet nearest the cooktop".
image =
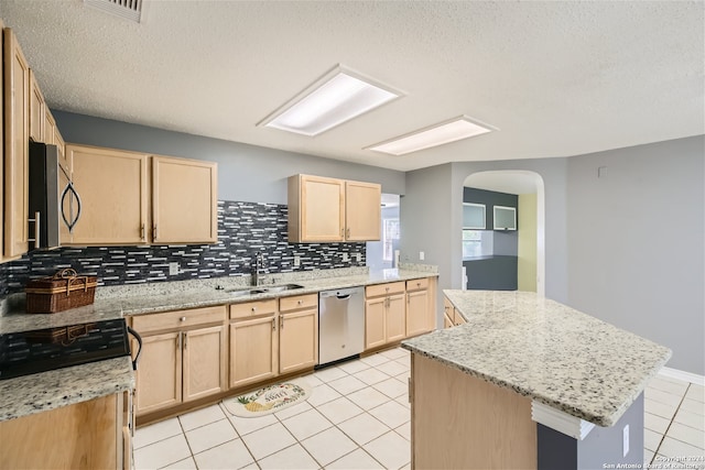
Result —
[[[184,402],[225,392],[226,334],[225,325],[182,332]]]

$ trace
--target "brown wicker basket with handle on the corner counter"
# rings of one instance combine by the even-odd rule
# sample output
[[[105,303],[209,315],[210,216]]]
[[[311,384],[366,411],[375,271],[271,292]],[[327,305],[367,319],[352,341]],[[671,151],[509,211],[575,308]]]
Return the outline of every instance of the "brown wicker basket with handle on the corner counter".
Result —
[[[52,277],[30,281],[24,289],[26,311],[55,314],[90,305],[96,296],[96,276],[79,276],[72,269],[62,270]]]

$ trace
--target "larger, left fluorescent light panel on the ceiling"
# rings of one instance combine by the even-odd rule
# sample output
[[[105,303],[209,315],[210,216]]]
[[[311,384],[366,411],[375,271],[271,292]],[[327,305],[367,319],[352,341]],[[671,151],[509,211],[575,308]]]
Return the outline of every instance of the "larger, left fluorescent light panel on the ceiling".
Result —
[[[258,125],[314,136],[401,96],[337,66]]]

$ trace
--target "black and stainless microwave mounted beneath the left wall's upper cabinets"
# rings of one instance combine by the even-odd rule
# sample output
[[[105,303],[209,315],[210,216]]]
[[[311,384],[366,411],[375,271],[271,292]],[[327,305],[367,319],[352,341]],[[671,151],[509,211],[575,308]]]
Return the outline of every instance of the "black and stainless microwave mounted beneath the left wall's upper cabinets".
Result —
[[[80,217],[80,198],[70,175],[58,162],[56,145],[30,142],[30,249],[57,248],[59,223],[72,231]]]

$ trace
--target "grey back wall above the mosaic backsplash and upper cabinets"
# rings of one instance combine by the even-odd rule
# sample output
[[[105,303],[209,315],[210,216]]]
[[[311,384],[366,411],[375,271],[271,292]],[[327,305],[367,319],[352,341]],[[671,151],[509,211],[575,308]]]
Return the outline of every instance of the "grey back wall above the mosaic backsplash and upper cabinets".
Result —
[[[404,194],[404,173],[301,153],[54,111],[68,143],[218,162],[218,199],[286,204],[286,178],[299,173],[382,185]]]

